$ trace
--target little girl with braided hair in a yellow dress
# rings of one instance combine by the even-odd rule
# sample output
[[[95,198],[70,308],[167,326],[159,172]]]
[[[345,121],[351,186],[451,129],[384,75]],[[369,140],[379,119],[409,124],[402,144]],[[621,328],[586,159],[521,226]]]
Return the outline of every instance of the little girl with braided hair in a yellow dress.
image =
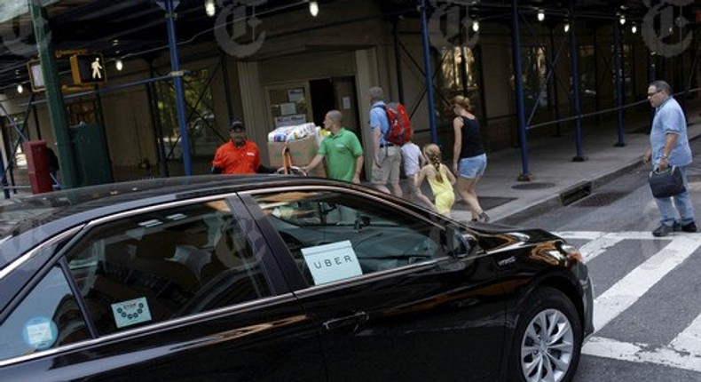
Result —
[[[453,184],[455,184],[455,176],[441,161],[440,147],[430,143],[423,147],[423,155],[429,160],[429,163],[421,168],[415,177],[414,184],[417,188],[423,184],[423,179],[429,180],[429,185],[433,196],[436,199],[434,205],[436,211],[447,217],[450,217],[450,211],[455,203],[455,193],[453,192]]]

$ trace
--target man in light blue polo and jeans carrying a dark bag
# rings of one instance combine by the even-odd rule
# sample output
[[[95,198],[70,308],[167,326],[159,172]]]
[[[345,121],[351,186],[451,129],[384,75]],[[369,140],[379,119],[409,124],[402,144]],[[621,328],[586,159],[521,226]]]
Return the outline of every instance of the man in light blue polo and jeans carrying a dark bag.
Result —
[[[655,81],[648,87],[648,99],[650,105],[655,107],[655,117],[650,130],[650,148],[643,162],[651,162],[653,169],[658,167],[663,171],[669,166],[676,166],[681,171],[687,190],[673,197],[655,198],[660,214],[660,225],[652,231],[655,236],[666,236],[673,231],[697,232],[686,174],[691,164],[687,121],[671,94],[672,88],[665,81]],[[676,219],[675,208],[679,212],[679,220]]]

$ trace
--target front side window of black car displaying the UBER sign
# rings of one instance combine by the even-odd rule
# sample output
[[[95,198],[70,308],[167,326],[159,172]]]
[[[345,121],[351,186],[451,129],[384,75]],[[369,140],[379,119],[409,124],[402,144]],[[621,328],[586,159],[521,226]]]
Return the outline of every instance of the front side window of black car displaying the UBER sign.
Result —
[[[254,195],[307,283],[318,285],[446,256],[442,228],[361,195]]]

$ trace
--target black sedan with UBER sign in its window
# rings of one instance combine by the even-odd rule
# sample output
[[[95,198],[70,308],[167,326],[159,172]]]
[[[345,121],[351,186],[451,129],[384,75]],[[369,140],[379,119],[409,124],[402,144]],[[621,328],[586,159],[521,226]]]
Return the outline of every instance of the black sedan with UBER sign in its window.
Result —
[[[569,381],[579,252],[322,179],[152,179],[0,207],[0,381]]]

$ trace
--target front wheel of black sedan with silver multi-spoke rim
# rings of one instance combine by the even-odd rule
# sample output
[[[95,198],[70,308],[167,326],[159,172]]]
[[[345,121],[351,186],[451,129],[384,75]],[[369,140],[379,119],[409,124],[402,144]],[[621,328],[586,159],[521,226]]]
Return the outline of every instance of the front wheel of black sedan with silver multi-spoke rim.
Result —
[[[514,333],[508,380],[571,381],[582,344],[582,326],[574,304],[562,291],[540,287],[523,306]]]

